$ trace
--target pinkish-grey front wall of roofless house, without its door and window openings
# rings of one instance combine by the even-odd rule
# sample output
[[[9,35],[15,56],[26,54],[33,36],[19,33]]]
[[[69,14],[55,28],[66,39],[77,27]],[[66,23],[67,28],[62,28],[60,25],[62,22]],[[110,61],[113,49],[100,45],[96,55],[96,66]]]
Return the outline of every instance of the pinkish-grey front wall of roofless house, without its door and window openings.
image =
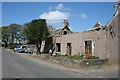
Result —
[[[99,58],[106,58],[105,30],[91,30],[74,34],[63,35],[56,38],[56,43],[61,43],[61,54],[66,54],[66,45],[71,43],[72,55],[85,53],[85,41],[91,40],[93,43],[92,54]]]

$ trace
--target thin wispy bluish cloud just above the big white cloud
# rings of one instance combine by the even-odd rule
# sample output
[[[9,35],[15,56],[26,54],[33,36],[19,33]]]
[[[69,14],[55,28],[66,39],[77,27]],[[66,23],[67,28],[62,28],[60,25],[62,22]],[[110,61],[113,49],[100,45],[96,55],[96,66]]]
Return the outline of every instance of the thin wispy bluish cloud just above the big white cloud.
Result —
[[[70,11],[70,8],[65,7],[62,3],[55,5],[54,7],[49,7],[49,11],[51,10],[58,10],[58,11]]]

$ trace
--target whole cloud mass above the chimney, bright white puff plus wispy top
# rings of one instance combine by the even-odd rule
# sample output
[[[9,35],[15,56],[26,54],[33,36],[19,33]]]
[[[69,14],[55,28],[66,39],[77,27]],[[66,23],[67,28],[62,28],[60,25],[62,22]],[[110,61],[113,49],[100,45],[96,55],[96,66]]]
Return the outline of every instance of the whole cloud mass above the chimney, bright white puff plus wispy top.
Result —
[[[64,19],[69,18],[70,10],[62,3],[53,5],[48,8],[48,12],[43,12],[40,15],[40,19],[46,19],[48,24],[59,24]]]

